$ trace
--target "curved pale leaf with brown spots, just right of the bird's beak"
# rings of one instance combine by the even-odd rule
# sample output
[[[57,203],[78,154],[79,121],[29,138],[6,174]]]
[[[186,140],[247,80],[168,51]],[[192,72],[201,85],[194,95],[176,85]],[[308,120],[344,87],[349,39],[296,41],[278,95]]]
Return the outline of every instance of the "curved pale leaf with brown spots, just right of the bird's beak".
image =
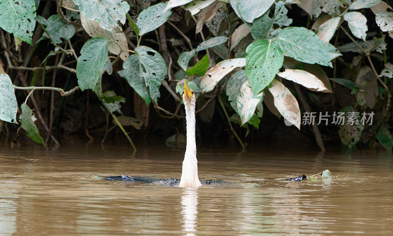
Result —
[[[205,92],[209,92],[214,89],[216,84],[224,78],[226,74],[231,72],[237,67],[246,66],[245,58],[235,58],[220,61],[215,66],[210,68],[200,81],[200,88],[204,89]]]

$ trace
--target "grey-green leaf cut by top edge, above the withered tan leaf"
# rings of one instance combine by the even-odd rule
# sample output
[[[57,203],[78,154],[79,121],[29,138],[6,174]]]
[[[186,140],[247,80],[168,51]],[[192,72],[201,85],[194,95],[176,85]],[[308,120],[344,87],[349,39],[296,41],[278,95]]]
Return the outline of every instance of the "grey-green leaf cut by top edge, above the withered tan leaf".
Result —
[[[100,23],[102,29],[112,31],[126,22],[126,13],[130,5],[123,0],[74,0],[79,10],[90,20]]]

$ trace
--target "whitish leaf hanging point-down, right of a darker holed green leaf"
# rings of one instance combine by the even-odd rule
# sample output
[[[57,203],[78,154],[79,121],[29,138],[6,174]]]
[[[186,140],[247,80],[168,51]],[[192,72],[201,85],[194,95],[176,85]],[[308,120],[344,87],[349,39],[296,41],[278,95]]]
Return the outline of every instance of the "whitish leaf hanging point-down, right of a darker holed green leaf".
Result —
[[[237,111],[242,120],[242,124],[245,124],[253,117],[256,106],[260,103],[262,98],[263,92],[254,95],[249,81],[246,80],[246,82],[240,88],[240,93],[236,100]]]

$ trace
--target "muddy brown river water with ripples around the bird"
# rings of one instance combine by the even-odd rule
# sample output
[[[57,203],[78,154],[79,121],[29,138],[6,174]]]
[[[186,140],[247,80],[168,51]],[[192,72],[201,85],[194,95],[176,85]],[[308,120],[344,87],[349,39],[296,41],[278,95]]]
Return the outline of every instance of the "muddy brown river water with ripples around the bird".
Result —
[[[389,153],[198,147],[198,190],[97,180],[180,177],[182,149],[0,150],[0,235],[393,235]],[[329,169],[317,182],[280,179]]]

